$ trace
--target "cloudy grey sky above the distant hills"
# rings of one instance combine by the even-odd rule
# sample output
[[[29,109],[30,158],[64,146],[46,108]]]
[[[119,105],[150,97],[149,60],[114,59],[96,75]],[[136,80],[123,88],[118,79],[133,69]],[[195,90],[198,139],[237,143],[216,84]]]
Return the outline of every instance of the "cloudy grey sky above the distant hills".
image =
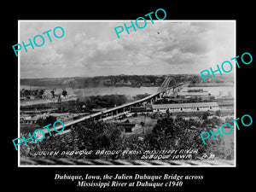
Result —
[[[200,74],[236,56],[233,20],[147,20],[143,29],[124,30],[118,38],[114,27],[124,23],[131,26],[131,20],[20,20],[19,44],[44,37],[43,46],[19,51],[20,79]],[[52,33],[56,26],[64,29],[62,38]],[[52,42],[43,34],[48,30]]]

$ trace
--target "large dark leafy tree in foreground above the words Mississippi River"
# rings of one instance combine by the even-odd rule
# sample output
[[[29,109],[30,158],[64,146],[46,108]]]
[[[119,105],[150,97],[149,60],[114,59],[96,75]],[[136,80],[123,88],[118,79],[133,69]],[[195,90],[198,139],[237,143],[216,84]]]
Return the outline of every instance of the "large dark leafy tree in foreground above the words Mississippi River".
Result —
[[[190,129],[191,126],[195,126],[196,129]],[[202,143],[201,131],[201,124],[194,119],[158,119],[152,133],[145,137],[145,143],[148,143],[149,150],[197,148],[199,153],[193,154],[195,159],[202,153],[209,153],[211,149],[211,145]]]

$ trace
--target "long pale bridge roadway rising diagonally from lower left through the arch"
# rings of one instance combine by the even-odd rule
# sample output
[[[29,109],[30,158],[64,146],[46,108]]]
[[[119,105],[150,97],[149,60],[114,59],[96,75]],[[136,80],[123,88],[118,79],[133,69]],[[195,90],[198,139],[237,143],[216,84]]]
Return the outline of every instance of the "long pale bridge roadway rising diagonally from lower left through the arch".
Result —
[[[177,85],[175,85],[175,86],[166,88],[166,90],[175,89],[175,88],[180,87],[180,86],[183,86],[184,84],[187,84],[187,83],[188,83],[188,82],[185,82],[185,83],[182,83],[182,84],[177,84]],[[115,107],[115,108],[108,108],[107,110],[102,111],[102,112],[92,113],[92,114],[86,115],[86,116],[84,116],[84,117],[82,117],[82,118],[75,119],[75,120],[72,120],[72,121],[68,121],[67,123],[64,123],[65,128],[66,128],[66,127],[70,127],[70,126],[72,126],[72,125],[76,125],[76,124],[78,124],[78,123],[80,123],[80,122],[82,122],[82,121],[84,121],[84,120],[86,120],[86,119],[90,119],[90,118],[100,117],[100,119],[102,119],[102,118],[101,118],[101,115],[107,114],[107,113],[112,113],[113,118],[114,118],[114,117],[117,117],[118,114],[120,115],[120,114],[125,113],[125,108],[131,107],[131,106],[134,106],[134,105],[137,105],[137,104],[139,104],[139,103],[141,103],[141,102],[146,102],[146,101],[148,101],[148,100],[151,100],[151,99],[153,99],[154,97],[159,96],[162,92],[165,92],[166,90],[161,90],[160,92],[154,93],[154,94],[152,94],[152,95],[150,95],[150,96],[146,96],[146,97],[144,97],[143,99],[137,100],[137,101],[135,101],[135,102],[125,103],[125,104],[120,105],[120,106],[117,106],[117,107]],[[118,111],[119,109],[123,109],[123,111],[119,113],[119,111]],[[130,109],[129,109],[129,110],[130,110]],[[116,115],[113,115],[113,112],[115,112],[115,111],[116,111]],[[56,130],[60,130],[60,129],[62,129],[62,128],[63,128],[62,125],[56,125],[56,126],[55,126],[55,129],[56,129]],[[65,130],[66,130],[66,129],[65,129]],[[53,131],[53,128],[51,128],[50,131]],[[44,133],[47,133],[47,132],[48,132],[48,131],[45,129],[45,130],[44,130]]]

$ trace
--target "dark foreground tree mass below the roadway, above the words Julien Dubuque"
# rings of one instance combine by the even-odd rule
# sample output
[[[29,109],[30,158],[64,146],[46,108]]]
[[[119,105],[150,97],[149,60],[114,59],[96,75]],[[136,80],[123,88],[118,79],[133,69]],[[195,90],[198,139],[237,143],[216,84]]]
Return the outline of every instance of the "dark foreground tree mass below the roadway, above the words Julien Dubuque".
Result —
[[[47,120],[45,119],[45,122],[46,121]],[[21,147],[24,149],[24,146]],[[46,137],[42,142],[31,145],[31,148],[21,150],[21,155],[32,156],[38,150],[78,151],[86,149],[87,151],[93,150],[96,152],[97,150],[119,150],[120,148],[122,148],[122,132],[116,125],[89,119],[83,123],[75,125],[67,134],[58,137]],[[86,155],[86,158],[106,159],[116,158],[116,155],[117,154],[108,155],[92,153]],[[56,157],[63,157],[63,155],[60,153],[57,154]],[[81,158],[81,155],[73,154],[72,157]]]

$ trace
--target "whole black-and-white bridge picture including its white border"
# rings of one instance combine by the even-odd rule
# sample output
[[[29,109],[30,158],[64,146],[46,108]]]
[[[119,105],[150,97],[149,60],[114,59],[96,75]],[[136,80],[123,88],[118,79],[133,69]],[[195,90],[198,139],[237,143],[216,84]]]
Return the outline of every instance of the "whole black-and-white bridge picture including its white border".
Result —
[[[18,21],[19,167],[236,167],[236,20],[131,20]]]

